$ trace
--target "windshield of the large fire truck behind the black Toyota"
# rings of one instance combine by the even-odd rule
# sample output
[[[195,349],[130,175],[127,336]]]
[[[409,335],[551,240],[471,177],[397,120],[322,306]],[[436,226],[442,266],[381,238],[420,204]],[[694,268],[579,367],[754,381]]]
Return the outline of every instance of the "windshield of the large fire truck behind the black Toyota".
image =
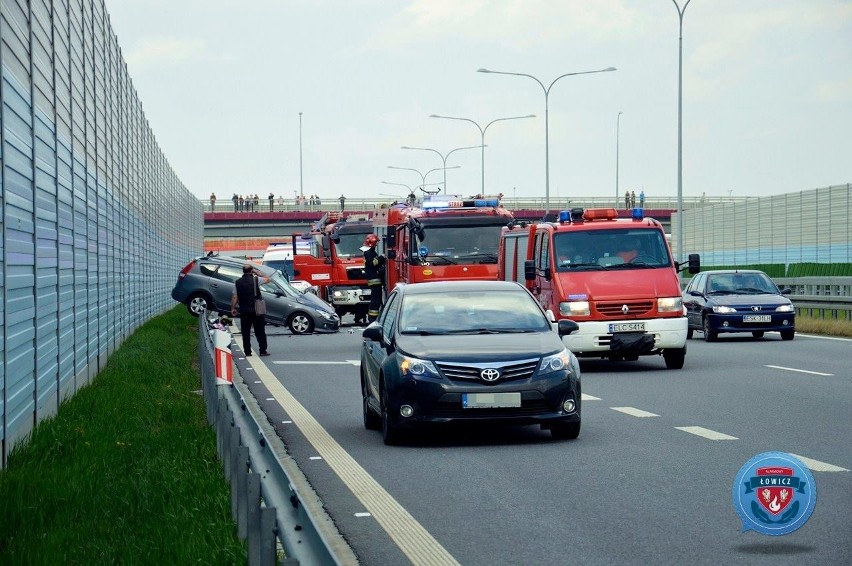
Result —
[[[497,263],[501,226],[426,226],[423,241],[412,238],[411,256],[441,264]]]

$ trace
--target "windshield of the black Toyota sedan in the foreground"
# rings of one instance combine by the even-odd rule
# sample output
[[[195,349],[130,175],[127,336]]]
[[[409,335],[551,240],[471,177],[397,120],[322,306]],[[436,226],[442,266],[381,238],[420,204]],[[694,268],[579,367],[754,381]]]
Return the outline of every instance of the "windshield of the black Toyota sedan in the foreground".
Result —
[[[550,322],[523,289],[424,293],[403,299],[402,334],[541,332]]]

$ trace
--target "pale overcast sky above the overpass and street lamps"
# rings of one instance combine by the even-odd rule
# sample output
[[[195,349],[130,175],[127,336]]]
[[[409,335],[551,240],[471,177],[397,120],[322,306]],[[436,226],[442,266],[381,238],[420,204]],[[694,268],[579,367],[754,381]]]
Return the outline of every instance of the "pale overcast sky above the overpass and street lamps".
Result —
[[[682,6],[685,0],[678,0]],[[199,198],[404,196],[485,133],[485,192],[677,195],[672,0],[106,0],[133,84]],[[622,112],[620,120],[618,113]],[[301,116],[301,136],[300,118]],[[302,160],[300,166],[300,139]],[[438,151],[403,150],[401,146]],[[616,148],[618,147],[618,159]],[[447,157],[481,192],[479,149]],[[618,166],[616,166],[618,163]],[[388,166],[420,171],[393,170]],[[683,195],[852,182],[852,2],[692,0]],[[301,189],[300,189],[301,183]]]

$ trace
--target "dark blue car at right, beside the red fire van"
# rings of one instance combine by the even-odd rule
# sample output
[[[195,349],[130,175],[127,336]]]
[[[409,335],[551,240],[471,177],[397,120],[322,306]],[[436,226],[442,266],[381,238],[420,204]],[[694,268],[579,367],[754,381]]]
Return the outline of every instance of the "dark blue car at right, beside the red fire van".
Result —
[[[688,326],[686,337],[695,330],[713,342],[725,332],[751,332],[762,338],[766,332],[780,332],[782,340],[796,335],[796,311],[785,297],[790,289],[778,289],[762,271],[753,269],[716,270],[699,273],[683,292]]]

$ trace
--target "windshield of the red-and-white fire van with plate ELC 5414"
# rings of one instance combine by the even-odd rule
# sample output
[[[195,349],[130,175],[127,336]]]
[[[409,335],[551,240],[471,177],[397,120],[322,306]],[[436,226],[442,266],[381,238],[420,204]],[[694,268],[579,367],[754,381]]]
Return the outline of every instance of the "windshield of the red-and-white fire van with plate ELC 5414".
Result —
[[[557,271],[669,267],[672,259],[662,231],[584,230],[557,233]]]

